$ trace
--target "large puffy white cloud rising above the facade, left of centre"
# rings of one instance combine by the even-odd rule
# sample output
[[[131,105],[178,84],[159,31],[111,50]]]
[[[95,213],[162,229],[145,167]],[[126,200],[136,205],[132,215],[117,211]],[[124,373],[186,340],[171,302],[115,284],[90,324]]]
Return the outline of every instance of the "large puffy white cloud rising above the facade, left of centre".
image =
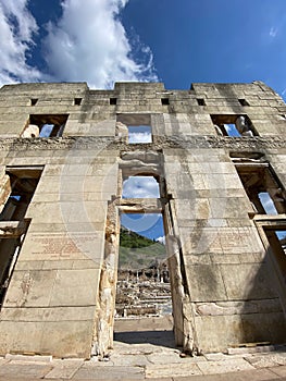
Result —
[[[146,63],[137,63],[119,14],[128,0],[63,0],[63,15],[48,25],[45,59],[51,79],[87,81],[111,87],[114,81],[156,81],[152,54],[141,47]]]

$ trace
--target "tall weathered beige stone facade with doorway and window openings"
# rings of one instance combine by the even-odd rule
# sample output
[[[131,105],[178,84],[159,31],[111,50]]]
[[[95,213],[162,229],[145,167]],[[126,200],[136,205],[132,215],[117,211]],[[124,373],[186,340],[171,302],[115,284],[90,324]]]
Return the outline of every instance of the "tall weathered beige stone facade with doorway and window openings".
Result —
[[[185,352],[286,341],[276,93],[261,82],[20,84],[0,99],[0,355],[107,354],[122,212],[163,216]],[[130,144],[128,127],[140,125],[151,143]],[[154,176],[160,198],[122,198],[136,175]]]

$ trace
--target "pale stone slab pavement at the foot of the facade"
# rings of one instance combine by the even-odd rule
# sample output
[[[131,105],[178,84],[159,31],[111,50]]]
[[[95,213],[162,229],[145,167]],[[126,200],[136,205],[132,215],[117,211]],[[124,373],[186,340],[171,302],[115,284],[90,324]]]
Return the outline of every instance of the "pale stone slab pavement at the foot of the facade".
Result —
[[[171,346],[116,341],[110,357],[102,361],[97,357],[63,360],[50,356],[7,355],[0,359],[0,381],[286,380],[285,346],[237,348],[231,353],[181,357],[181,352]]]

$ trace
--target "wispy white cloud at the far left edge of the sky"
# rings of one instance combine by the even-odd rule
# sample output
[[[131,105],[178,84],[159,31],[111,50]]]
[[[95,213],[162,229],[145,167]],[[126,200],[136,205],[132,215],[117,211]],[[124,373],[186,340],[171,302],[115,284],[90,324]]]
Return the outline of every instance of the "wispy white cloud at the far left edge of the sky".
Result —
[[[28,0],[0,0],[0,85],[34,82],[41,76],[27,64],[33,35],[38,30],[27,3]]]

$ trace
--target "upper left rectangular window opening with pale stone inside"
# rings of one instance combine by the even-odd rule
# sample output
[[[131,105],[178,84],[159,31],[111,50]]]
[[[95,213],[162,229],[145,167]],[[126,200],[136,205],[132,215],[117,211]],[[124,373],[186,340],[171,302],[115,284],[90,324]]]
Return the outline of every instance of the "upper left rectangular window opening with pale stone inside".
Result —
[[[21,137],[62,136],[69,114],[32,114]]]

